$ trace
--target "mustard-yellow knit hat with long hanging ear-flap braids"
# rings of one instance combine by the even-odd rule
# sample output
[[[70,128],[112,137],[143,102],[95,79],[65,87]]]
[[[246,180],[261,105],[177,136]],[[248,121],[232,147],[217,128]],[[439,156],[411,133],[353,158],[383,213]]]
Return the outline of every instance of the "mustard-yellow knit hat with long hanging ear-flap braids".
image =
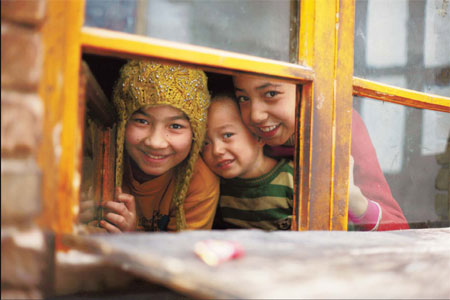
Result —
[[[193,141],[188,157],[176,166],[172,203],[177,208],[177,230],[186,228],[184,198],[194,165],[202,148],[210,96],[203,71],[184,66],[131,60],[120,70],[113,102],[118,115],[116,139],[116,186],[122,186],[125,126],[141,107],[170,105],[189,119]]]

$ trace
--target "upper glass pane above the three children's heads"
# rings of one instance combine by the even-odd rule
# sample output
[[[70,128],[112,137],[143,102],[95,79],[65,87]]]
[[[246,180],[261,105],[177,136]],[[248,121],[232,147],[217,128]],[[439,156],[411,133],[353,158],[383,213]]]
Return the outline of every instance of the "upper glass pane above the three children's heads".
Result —
[[[295,62],[296,7],[290,0],[87,0],[85,25]]]

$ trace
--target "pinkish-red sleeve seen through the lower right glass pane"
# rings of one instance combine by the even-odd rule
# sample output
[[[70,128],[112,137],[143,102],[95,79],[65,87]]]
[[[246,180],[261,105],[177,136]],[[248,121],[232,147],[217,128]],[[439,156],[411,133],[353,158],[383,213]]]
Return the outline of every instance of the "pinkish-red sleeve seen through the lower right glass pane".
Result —
[[[408,229],[408,222],[391,194],[361,116],[353,110],[352,118],[351,154],[355,161],[354,180],[363,195],[368,200],[376,202],[381,208],[381,219],[377,230]]]

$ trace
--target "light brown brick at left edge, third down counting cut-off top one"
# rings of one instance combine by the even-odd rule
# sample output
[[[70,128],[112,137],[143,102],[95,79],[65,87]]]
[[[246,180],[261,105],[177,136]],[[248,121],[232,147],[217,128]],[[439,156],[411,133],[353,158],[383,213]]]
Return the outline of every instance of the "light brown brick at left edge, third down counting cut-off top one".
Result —
[[[2,90],[1,97],[2,158],[36,154],[43,126],[40,97],[7,90]]]

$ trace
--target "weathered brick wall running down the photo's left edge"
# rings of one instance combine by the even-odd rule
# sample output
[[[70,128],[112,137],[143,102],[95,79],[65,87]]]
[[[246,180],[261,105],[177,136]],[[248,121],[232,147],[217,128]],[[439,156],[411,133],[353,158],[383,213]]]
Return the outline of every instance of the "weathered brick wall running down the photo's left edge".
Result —
[[[41,212],[40,28],[46,5],[45,0],[1,1],[2,299],[45,297],[52,282],[51,234],[34,222]]]

